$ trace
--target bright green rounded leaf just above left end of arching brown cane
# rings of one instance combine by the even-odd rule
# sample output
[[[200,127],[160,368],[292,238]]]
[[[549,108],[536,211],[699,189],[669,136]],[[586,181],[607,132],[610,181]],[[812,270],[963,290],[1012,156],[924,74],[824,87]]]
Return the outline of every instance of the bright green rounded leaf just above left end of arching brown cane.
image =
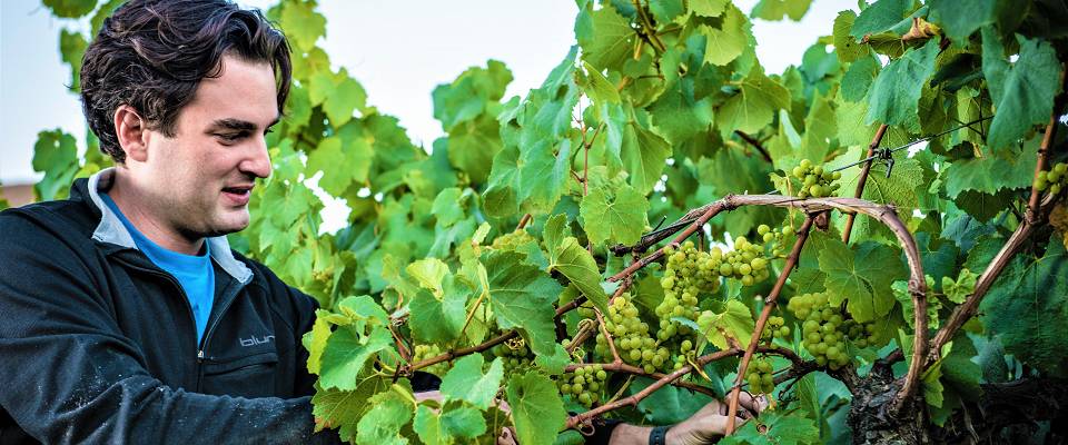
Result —
[[[614,196],[610,192],[614,191]],[[615,190],[594,187],[582,198],[580,215],[583,228],[593,244],[610,245],[637,243],[649,225],[645,214],[649,201],[645,196],[624,185]]]

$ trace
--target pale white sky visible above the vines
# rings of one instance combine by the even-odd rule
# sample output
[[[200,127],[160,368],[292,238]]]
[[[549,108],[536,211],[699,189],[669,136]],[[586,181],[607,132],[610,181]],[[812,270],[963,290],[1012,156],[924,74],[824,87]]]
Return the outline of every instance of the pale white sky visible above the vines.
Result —
[[[755,0],[735,0],[750,11]],[[266,8],[270,0],[239,3]],[[817,38],[831,32],[852,0],[814,0],[800,22],[753,20],[756,56],[768,72],[801,61]],[[416,142],[429,147],[444,134],[433,117],[431,91],[472,66],[505,62],[514,80],[506,98],[536,88],[574,41],[571,0],[320,0],[327,18],[320,44],[335,68],[363,83],[368,103],[399,118]],[[51,17],[37,0],[0,1],[0,182],[33,182],[37,132],[62,128],[81,141],[86,126],[76,96],[65,87],[69,69],[59,31],[88,24]]]

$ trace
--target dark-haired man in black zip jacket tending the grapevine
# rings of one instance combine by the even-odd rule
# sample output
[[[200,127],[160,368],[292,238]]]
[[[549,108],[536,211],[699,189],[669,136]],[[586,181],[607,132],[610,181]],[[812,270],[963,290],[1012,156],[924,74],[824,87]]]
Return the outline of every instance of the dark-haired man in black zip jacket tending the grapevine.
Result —
[[[0,443],[337,441],[312,435],[315,301],[225,238],[270,175],[289,81],[285,37],[258,11],[134,0],[105,20],[82,105],[116,167],[0,214]],[[722,414],[669,438],[711,439]]]

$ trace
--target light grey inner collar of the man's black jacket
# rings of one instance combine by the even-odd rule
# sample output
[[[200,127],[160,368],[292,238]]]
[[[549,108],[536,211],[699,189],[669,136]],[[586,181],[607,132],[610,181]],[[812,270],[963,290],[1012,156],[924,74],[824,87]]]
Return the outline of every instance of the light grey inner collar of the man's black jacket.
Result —
[[[122,225],[119,216],[111,211],[111,208],[103,204],[103,199],[100,198],[100,190],[111,188],[112,179],[115,179],[115,167],[106,168],[89,177],[86,194],[89,196],[92,206],[100,212],[100,222],[92,233],[92,239],[136,250],[137,245],[134,244],[134,237],[130,236],[129,230]],[[209,237],[205,241],[210,246],[211,259],[222,270],[226,270],[243,285],[253,279],[253,271],[248,266],[234,258],[234,253],[230,251],[230,244],[226,240],[226,236]]]

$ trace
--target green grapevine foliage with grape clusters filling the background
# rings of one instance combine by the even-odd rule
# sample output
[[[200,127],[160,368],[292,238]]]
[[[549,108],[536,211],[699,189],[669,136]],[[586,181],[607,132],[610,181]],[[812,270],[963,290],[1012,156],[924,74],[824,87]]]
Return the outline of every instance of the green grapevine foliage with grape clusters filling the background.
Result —
[[[88,17],[92,32],[119,3],[44,0],[57,17]],[[1064,127],[1051,123],[1064,112],[1064,3],[861,1],[798,65],[767,72],[752,21],[799,20],[809,3],[577,0],[577,44],[560,48],[540,88],[505,98],[512,73],[494,60],[438,86],[446,136],[431,147],[332,63],[314,1],[270,8],[294,85],[268,137],[273,175],[255,189],[250,226],[229,239],[322,304],[304,337],[318,427],[366,444],[494,443],[502,426],[524,445],[576,442],[567,427],[593,415],[669,424],[726,399],[744,362],[742,389],[770,394],[773,407],[725,442],[848,442],[842,376],[901,349],[892,369],[907,377],[914,336],[932,338],[976,295],[978,316],[919,357],[909,396],[930,425],[959,422],[980,385],[1068,377],[1062,204],[986,295],[976,290],[1031,210],[1039,159],[1050,184],[1064,177],[1054,166],[1068,132],[1039,156]],[[72,90],[90,36],[59,37]],[[873,141],[921,139],[876,150],[870,171],[858,164]],[[59,129],[42,131],[34,152],[39,199],[108,164],[91,135]],[[312,178],[352,209],[337,233],[320,229]],[[682,229],[670,222],[691,209],[767,192],[891,205],[926,283],[910,289],[889,226],[839,211],[812,225],[799,208],[728,208],[691,244],[625,248]],[[791,271],[795,244],[775,305],[764,297]],[[624,270],[653,253],[666,259]],[[771,330],[755,333],[765,322]],[[416,369],[442,377],[442,399],[413,397]]]

